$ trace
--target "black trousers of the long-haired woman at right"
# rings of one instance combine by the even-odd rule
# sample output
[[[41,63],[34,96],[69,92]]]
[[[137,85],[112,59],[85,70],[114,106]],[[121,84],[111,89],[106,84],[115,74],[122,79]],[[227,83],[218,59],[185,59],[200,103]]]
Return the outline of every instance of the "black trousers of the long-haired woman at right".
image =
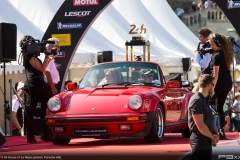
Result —
[[[212,102],[217,99],[217,112],[219,116],[220,128],[224,128],[225,125],[225,113],[223,106],[226,101],[227,95],[232,89],[232,78],[230,75],[219,76],[216,87],[214,88],[214,96]]]

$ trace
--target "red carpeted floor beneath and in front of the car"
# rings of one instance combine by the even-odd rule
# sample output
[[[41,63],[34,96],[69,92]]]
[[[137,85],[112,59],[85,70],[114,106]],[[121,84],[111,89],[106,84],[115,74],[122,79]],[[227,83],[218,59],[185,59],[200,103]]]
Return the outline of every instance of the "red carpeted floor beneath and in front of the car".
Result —
[[[239,138],[240,133],[226,133],[228,140],[220,140],[217,147],[213,148],[213,156],[216,154],[240,155]],[[185,154],[191,151],[189,138],[183,138],[180,133],[165,134],[162,143],[148,144],[143,138],[77,138],[72,139],[68,145],[56,146],[51,142],[43,142],[37,137],[38,143],[26,143],[26,137],[12,136],[6,137],[5,146],[9,149],[0,150],[0,159],[3,156],[13,156],[9,159],[20,159],[21,156],[32,156],[35,159],[106,159],[122,160],[127,159],[145,159],[152,160],[181,159]],[[44,158],[45,156],[45,158]],[[149,159],[151,157],[151,159]],[[28,157],[26,157],[28,158]],[[51,159],[51,158],[50,158]],[[125,160],[125,159],[124,159]]]

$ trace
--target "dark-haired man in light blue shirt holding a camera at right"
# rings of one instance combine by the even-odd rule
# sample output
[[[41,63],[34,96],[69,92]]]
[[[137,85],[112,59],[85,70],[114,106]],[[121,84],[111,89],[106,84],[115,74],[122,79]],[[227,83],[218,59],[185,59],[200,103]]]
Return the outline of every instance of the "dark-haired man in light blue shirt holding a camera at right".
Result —
[[[198,35],[199,35],[199,44],[198,44],[198,48],[195,52],[197,52],[198,54],[196,55],[196,61],[198,62],[198,64],[201,67],[201,73],[202,74],[209,74],[212,75],[211,73],[211,69],[210,69],[210,62],[211,62],[211,58],[212,55],[210,53],[204,53],[201,54],[201,51],[205,50],[206,48],[210,48],[210,44],[208,43],[208,36],[212,33],[211,30],[204,28],[198,31]]]

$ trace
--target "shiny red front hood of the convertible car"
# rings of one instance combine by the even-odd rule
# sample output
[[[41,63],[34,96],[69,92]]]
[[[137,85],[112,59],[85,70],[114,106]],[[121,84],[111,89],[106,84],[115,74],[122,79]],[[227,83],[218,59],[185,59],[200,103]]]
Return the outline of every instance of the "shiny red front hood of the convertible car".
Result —
[[[127,105],[129,97],[152,92],[152,87],[86,88],[73,92],[67,114],[117,113]]]

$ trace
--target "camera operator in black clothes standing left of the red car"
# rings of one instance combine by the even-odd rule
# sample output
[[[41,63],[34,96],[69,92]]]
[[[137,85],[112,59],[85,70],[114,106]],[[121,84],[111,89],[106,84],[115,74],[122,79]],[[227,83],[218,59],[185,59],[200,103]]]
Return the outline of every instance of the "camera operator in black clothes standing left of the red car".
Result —
[[[20,41],[20,45],[26,42],[31,42],[32,40],[34,40],[32,36],[24,36]],[[23,45],[21,45],[21,47],[23,49],[23,66],[25,67],[26,72],[26,82],[24,83],[24,119],[27,131],[27,143],[36,143],[33,128],[33,114],[38,101],[40,101],[42,104],[41,118],[43,134],[41,136],[41,139],[43,141],[50,141],[50,134],[44,122],[44,118],[46,115],[47,102],[51,97],[51,93],[44,81],[43,72],[46,70],[49,62],[54,58],[54,56],[52,54],[49,55],[49,53],[51,53],[51,50],[46,49],[46,57],[42,63],[41,60],[37,58],[39,54],[26,54],[24,53],[25,48],[23,48]]]

